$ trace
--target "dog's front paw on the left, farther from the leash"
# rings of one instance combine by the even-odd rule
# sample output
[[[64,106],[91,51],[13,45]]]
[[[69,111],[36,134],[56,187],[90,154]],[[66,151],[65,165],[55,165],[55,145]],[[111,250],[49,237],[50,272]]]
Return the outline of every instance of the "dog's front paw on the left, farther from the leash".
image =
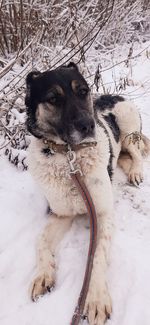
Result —
[[[40,296],[43,296],[47,292],[51,292],[54,285],[54,276],[46,271],[39,274],[31,284],[31,299],[36,301]]]

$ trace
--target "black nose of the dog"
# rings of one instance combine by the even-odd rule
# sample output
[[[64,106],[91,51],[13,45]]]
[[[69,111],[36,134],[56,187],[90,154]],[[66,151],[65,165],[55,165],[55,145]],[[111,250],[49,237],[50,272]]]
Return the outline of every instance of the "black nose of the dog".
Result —
[[[95,129],[95,122],[92,118],[83,118],[77,121],[76,128],[84,135],[92,135]]]

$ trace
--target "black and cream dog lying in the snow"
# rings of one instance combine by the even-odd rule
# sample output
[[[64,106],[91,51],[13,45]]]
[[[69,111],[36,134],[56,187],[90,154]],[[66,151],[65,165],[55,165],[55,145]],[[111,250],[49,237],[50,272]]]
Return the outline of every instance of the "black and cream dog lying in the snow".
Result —
[[[32,135],[29,170],[52,209],[38,243],[38,273],[31,298],[55,285],[55,251],[77,216],[86,208],[70,177],[66,147],[74,148],[76,164],[97,212],[98,240],[84,314],[90,325],[104,324],[112,313],[106,270],[113,234],[113,174],[117,163],[134,185],[143,181],[143,156],[150,141],[142,134],[141,118],[118,95],[94,101],[76,64],[29,73],[26,79],[27,128]],[[93,143],[96,142],[96,145]]]

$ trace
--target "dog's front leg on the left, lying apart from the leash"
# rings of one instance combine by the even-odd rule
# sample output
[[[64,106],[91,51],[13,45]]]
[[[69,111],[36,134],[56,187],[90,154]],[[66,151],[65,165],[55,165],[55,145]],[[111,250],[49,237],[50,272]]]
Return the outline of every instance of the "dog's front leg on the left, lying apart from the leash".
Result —
[[[51,291],[55,284],[55,251],[66,231],[69,230],[72,219],[51,216],[38,242],[37,267],[38,273],[31,284],[33,301]]]

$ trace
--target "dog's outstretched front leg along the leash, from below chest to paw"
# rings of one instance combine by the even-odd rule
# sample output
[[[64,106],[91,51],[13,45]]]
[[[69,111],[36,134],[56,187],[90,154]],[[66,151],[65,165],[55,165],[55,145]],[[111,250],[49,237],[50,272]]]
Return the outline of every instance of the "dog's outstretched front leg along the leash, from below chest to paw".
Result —
[[[84,311],[90,325],[103,325],[112,312],[106,279],[112,234],[112,226],[109,224],[108,219],[110,219],[108,215],[98,217],[99,240]]]

